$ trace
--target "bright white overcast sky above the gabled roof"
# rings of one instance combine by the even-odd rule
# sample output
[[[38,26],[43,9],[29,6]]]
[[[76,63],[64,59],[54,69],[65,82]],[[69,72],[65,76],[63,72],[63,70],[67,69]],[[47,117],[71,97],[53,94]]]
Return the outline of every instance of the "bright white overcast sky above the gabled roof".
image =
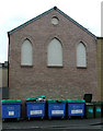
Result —
[[[101,2],[103,0],[0,0],[0,62],[8,60],[8,32],[55,5],[101,36]]]

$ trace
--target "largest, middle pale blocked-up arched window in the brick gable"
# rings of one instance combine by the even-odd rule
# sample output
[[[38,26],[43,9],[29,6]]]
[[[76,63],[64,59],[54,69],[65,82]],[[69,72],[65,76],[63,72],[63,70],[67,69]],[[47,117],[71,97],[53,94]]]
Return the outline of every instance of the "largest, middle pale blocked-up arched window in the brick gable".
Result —
[[[62,67],[62,47],[57,38],[54,38],[48,45],[47,66]]]

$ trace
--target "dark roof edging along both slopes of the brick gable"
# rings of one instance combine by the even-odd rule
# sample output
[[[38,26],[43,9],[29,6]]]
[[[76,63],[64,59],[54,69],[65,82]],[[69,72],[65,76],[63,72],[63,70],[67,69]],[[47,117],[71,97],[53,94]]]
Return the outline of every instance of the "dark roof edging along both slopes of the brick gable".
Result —
[[[56,10],[56,11],[59,12],[61,15],[64,15],[64,16],[67,17],[69,21],[71,21],[71,22],[75,23],[77,26],[79,26],[81,29],[83,29],[84,32],[87,32],[88,34],[90,34],[92,37],[96,38],[96,36],[95,36],[94,34],[92,34],[92,33],[91,33],[90,31],[88,31],[85,27],[83,27],[82,25],[80,25],[78,22],[76,22],[76,21],[75,21],[73,19],[71,19],[70,16],[68,16],[66,13],[64,13],[64,12],[62,12],[61,10],[59,10],[57,7],[54,7],[54,8],[52,8],[50,10],[42,13],[41,15],[38,15],[38,16],[36,16],[36,17],[27,21],[27,22],[25,22],[24,24],[22,24],[22,25],[15,27],[14,29],[8,32],[8,34],[11,35],[12,33],[16,32],[18,29],[20,29],[20,28],[22,28],[22,27],[31,24],[32,22],[38,20],[38,19],[42,17],[42,16],[50,13],[53,10]]]

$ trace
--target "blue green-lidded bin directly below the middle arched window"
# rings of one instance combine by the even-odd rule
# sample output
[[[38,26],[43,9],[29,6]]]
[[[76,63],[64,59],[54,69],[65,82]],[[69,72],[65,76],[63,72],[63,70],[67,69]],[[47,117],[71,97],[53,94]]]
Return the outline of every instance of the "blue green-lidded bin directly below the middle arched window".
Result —
[[[66,100],[65,99],[47,99],[48,104],[48,118],[66,116]]]

